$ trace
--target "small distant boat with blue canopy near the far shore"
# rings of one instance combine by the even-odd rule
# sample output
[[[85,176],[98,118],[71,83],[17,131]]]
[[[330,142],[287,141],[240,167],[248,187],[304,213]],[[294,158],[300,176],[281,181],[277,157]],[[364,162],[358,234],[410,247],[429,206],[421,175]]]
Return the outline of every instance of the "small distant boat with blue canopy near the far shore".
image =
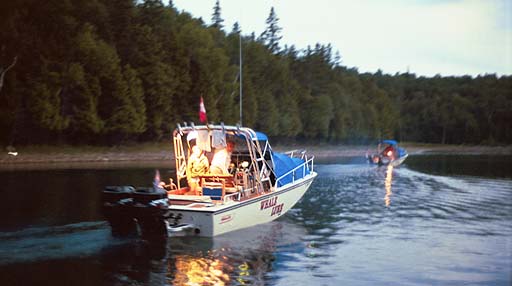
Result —
[[[383,146],[384,149],[382,150]],[[398,146],[398,142],[390,139],[382,140],[377,146],[377,152],[366,153],[368,163],[378,166],[391,165],[396,167],[402,164],[408,156],[407,151]]]

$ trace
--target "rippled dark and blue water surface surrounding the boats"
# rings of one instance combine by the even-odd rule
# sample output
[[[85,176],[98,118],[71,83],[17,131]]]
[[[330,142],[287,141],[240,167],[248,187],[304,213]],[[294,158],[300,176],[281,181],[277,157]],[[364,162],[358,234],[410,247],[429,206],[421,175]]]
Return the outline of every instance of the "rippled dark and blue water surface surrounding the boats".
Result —
[[[318,161],[269,224],[214,239],[117,239],[105,185],[155,169],[0,171],[2,285],[511,285],[512,156],[411,156],[394,169]]]

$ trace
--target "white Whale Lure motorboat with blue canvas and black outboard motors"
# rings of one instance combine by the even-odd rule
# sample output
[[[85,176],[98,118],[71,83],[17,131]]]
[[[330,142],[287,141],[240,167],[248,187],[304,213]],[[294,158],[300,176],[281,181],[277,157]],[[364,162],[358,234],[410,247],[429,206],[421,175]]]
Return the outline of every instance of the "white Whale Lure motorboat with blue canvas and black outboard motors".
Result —
[[[267,223],[290,210],[317,176],[314,157],[305,151],[274,152],[267,136],[250,128],[178,126],[173,141],[175,181],[146,189],[116,186],[103,191],[103,210],[114,235],[213,237]],[[229,142],[236,146],[230,156],[231,173],[199,175],[196,192],[187,180],[187,172],[192,173],[187,167],[192,146],[201,146],[209,158],[215,145],[221,150]]]

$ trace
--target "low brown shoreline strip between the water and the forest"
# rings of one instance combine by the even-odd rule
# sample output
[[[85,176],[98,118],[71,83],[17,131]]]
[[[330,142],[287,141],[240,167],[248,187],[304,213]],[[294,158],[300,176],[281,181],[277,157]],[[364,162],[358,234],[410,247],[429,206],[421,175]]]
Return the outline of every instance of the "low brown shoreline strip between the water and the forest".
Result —
[[[512,146],[468,146],[468,145],[440,145],[440,144],[402,144],[409,154],[496,154],[512,155]],[[291,149],[306,149],[308,153],[319,158],[327,157],[353,157],[364,156],[367,150],[374,150],[375,146],[357,145],[329,145],[318,144],[314,146],[276,145],[276,151]],[[6,148],[2,148],[0,165],[13,164],[44,164],[44,163],[80,163],[80,162],[149,162],[172,161],[173,147],[169,142],[145,143],[128,146],[98,147],[98,146],[25,146],[16,150],[17,155],[9,155]]]

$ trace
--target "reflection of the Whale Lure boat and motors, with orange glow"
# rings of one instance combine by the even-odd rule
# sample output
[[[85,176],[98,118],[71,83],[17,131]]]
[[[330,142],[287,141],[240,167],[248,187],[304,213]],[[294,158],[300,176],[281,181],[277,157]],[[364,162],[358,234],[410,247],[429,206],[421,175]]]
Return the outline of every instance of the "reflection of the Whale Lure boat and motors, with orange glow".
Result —
[[[107,248],[102,264],[115,265],[107,275],[113,284],[266,285],[277,247],[299,241],[295,234],[303,230],[272,222],[215,238],[173,237],[160,244],[138,240]]]

